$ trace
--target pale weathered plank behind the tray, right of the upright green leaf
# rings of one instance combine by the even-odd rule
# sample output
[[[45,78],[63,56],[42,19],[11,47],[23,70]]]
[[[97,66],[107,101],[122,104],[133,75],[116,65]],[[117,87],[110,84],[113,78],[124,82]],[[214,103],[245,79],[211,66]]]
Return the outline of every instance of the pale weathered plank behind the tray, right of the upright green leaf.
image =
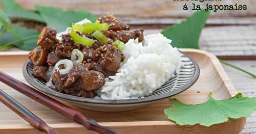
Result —
[[[156,34],[162,29],[147,29],[145,34]],[[200,49],[218,57],[240,56],[256,59],[256,25],[215,26],[203,29]]]

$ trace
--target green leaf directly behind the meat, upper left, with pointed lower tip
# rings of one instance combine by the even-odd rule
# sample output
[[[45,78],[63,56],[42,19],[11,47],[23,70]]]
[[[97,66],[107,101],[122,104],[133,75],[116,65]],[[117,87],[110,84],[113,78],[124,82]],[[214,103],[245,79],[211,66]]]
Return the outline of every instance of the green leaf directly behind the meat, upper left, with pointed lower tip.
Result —
[[[57,32],[65,31],[72,23],[87,18],[94,22],[97,17],[87,11],[63,11],[59,8],[36,6],[37,11],[46,20],[47,26],[57,30]]]

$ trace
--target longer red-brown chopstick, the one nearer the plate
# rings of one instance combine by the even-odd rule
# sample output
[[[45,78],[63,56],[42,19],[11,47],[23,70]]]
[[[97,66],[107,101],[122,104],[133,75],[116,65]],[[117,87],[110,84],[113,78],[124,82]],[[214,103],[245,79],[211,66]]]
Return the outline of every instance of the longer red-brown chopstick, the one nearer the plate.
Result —
[[[29,87],[28,85],[18,81],[17,79],[5,74],[2,71],[0,71],[0,81],[17,90],[18,92],[34,99],[35,101],[45,106],[48,106],[50,109],[55,110],[62,115],[65,115],[66,117],[74,120],[75,122],[83,126],[86,126],[86,128],[89,130],[93,130],[102,134],[118,133],[117,131],[109,127],[99,125],[95,120],[86,118],[82,115],[82,113]]]

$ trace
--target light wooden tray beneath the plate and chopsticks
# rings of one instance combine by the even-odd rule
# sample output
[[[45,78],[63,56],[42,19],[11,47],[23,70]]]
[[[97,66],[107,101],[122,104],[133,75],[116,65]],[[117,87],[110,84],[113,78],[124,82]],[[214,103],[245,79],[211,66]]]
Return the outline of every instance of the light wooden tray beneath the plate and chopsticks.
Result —
[[[195,85],[178,94],[175,98],[179,100],[196,104],[204,102],[208,99],[208,93],[212,92],[217,99],[227,99],[237,94],[232,86],[227,74],[221,66],[218,59],[202,50],[181,49],[189,56],[193,57],[199,67],[200,76]],[[1,52],[0,53],[0,70],[9,75],[26,82],[22,74],[22,66],[27,59],[28,52]],[[26,82],[27,83],[27,82]],[[46,121],[49,126],[58,130],[59,133],[94,133],[88,131],[83,126],[74,123],[66,117],[46,108],[45,106],[35,102],[23,94],[11,89],[10,87],[0,83],[0,88],[6,93],[22,103],[26,108],[36,114],[38,117]],[[89,118],[95,119],[103,126],[109,126],[119,133],[239,133],[244,125],[246,118],[232,119],[228,122],[204,127],[200,125],[179,126],[169,121],[163,109],[170,106],[168,99],[148,105],[145,108],[118,113],[104,113],[82,110],[75,106],[75,109],[82,112]],[[9,110],[0,103],[0,133],[41,133],[30,126],[26,121]]]

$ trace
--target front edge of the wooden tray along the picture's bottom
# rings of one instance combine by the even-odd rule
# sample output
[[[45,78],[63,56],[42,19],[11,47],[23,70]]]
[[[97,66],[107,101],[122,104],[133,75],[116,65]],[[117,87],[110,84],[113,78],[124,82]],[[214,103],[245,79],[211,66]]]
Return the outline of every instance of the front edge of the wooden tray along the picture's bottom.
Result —
[[[148,131],[151,131],[155,133],[157,130],[160,133],[168,133],[170,129],[174,131],[174,133],[180,133],[182,131],[187,131],[189,133],[223,133],[219,131],[212,131],[212,130],[227,130],[225,132],[227,133],[239,133],[245,124],[246,118],[240,118],[240,119],[230,119],[227,122],[215,124],[209,127],[201,126],[201,125],[173,125],[175,123],[171,121],[136,121],[136,122],[105,122],[105,123],[99,123],[100,125],[112,127],[116,130],[118,130],[120,133],[127,133],[127,130],[129,130],[128,133],[131,132],[141,132],[141,133],[148,133]],[[76,124],[76,123],[63,123],[63,124],[48,124],[49,126],[57,129],[60,133],[73,133],[74,130],[79,130],[77,134],[80,133],[93,133],[90,130],[87,130],[84,126]],[[232,128],[230,128],[230,126]],[[228,127],[228,128],[227,128]],[[19,125],[19,124],[13,124],[13,125],[1,125],[0,130],[3,132],[10,132],[10,129],[19,131],[21,133],[37,133],[38,130],[33,128],[31,125]],[[146,130],[146,131],[144,131]],[[142,132],[144,131],[144,132]]]

